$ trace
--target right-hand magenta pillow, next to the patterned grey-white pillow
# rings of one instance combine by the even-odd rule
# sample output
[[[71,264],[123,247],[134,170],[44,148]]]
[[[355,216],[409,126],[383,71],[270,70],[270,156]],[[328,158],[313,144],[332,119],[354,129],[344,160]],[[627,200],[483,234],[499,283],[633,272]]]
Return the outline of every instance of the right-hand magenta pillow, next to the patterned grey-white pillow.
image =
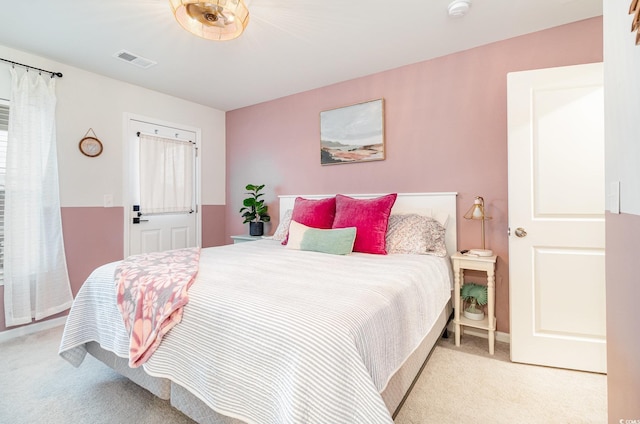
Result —
[[[336,195],[333,228],[356,227],[354,252],[386,255],[387,226],[397,193],[375,199],[354,199]]]

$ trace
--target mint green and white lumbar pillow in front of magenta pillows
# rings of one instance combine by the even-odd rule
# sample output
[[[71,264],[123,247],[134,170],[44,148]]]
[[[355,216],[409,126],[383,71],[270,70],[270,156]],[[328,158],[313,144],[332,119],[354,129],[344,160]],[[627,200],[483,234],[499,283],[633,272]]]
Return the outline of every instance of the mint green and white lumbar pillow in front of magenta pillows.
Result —
[[[355,240],[355,227],[323,230],[291,221],[291,224],[289,224],[289,241],[286,246],[289,249],[348,255],[353,251]]]

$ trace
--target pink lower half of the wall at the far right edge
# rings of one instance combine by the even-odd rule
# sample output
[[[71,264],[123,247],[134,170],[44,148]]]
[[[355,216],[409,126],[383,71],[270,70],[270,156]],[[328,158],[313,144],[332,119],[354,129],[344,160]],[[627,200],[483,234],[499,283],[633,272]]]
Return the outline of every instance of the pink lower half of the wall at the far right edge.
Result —
[[[640,215],[606,216],[607,389],[610,422],[640,419]]]

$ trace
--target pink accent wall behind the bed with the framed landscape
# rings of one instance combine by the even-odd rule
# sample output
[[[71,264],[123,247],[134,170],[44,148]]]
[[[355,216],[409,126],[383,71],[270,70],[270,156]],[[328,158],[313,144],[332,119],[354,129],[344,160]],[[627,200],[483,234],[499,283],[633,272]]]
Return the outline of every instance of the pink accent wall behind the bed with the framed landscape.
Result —
[[[267,185],[271,232],[280,194],[455,191],[458,247],[474,248],[479,225],[462,215],[481,195],[500,256],[498,330],[509,332],[506,76],[600,62],[602,50],[598,17],[228,112],[226,237],[247,233],[237,210],[248,183]],[[321,166],[319,113],[377,98],[386,159]]]

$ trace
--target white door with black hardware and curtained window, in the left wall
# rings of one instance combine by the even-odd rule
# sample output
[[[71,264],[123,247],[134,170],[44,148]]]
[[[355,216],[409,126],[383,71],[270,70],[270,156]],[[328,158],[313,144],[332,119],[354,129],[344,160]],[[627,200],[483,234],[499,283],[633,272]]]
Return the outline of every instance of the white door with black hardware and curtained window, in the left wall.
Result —
[[[168,140],[192,141],[193,146],[193,175],[192,175],[192,207],[188,211],[178,213],[153,213],[145,211],[144,202],[141,204],[141,183],[145,176],[141,173],[140,134],[149,134]],[[138,253],[158,252],[170,249],[198,246],[199,211],[198,211],[198,161],[197,146],[199,130],[184,128],[183,126],[153,122],[151,119],[127,116],[128,140],[126,155],[129,159],[128,178],[125,178],[128,191],[126,207],[129,211],[125,224],[125,256]],[[147,159],[148,160],[148,159]],[[149,177],[147,177],[148,181]],[[154,184],[164,184],[160,179],[154,179]],[[127,214],[125,214],[127,215]],[[126,231],[128,230],[128,231]]]

